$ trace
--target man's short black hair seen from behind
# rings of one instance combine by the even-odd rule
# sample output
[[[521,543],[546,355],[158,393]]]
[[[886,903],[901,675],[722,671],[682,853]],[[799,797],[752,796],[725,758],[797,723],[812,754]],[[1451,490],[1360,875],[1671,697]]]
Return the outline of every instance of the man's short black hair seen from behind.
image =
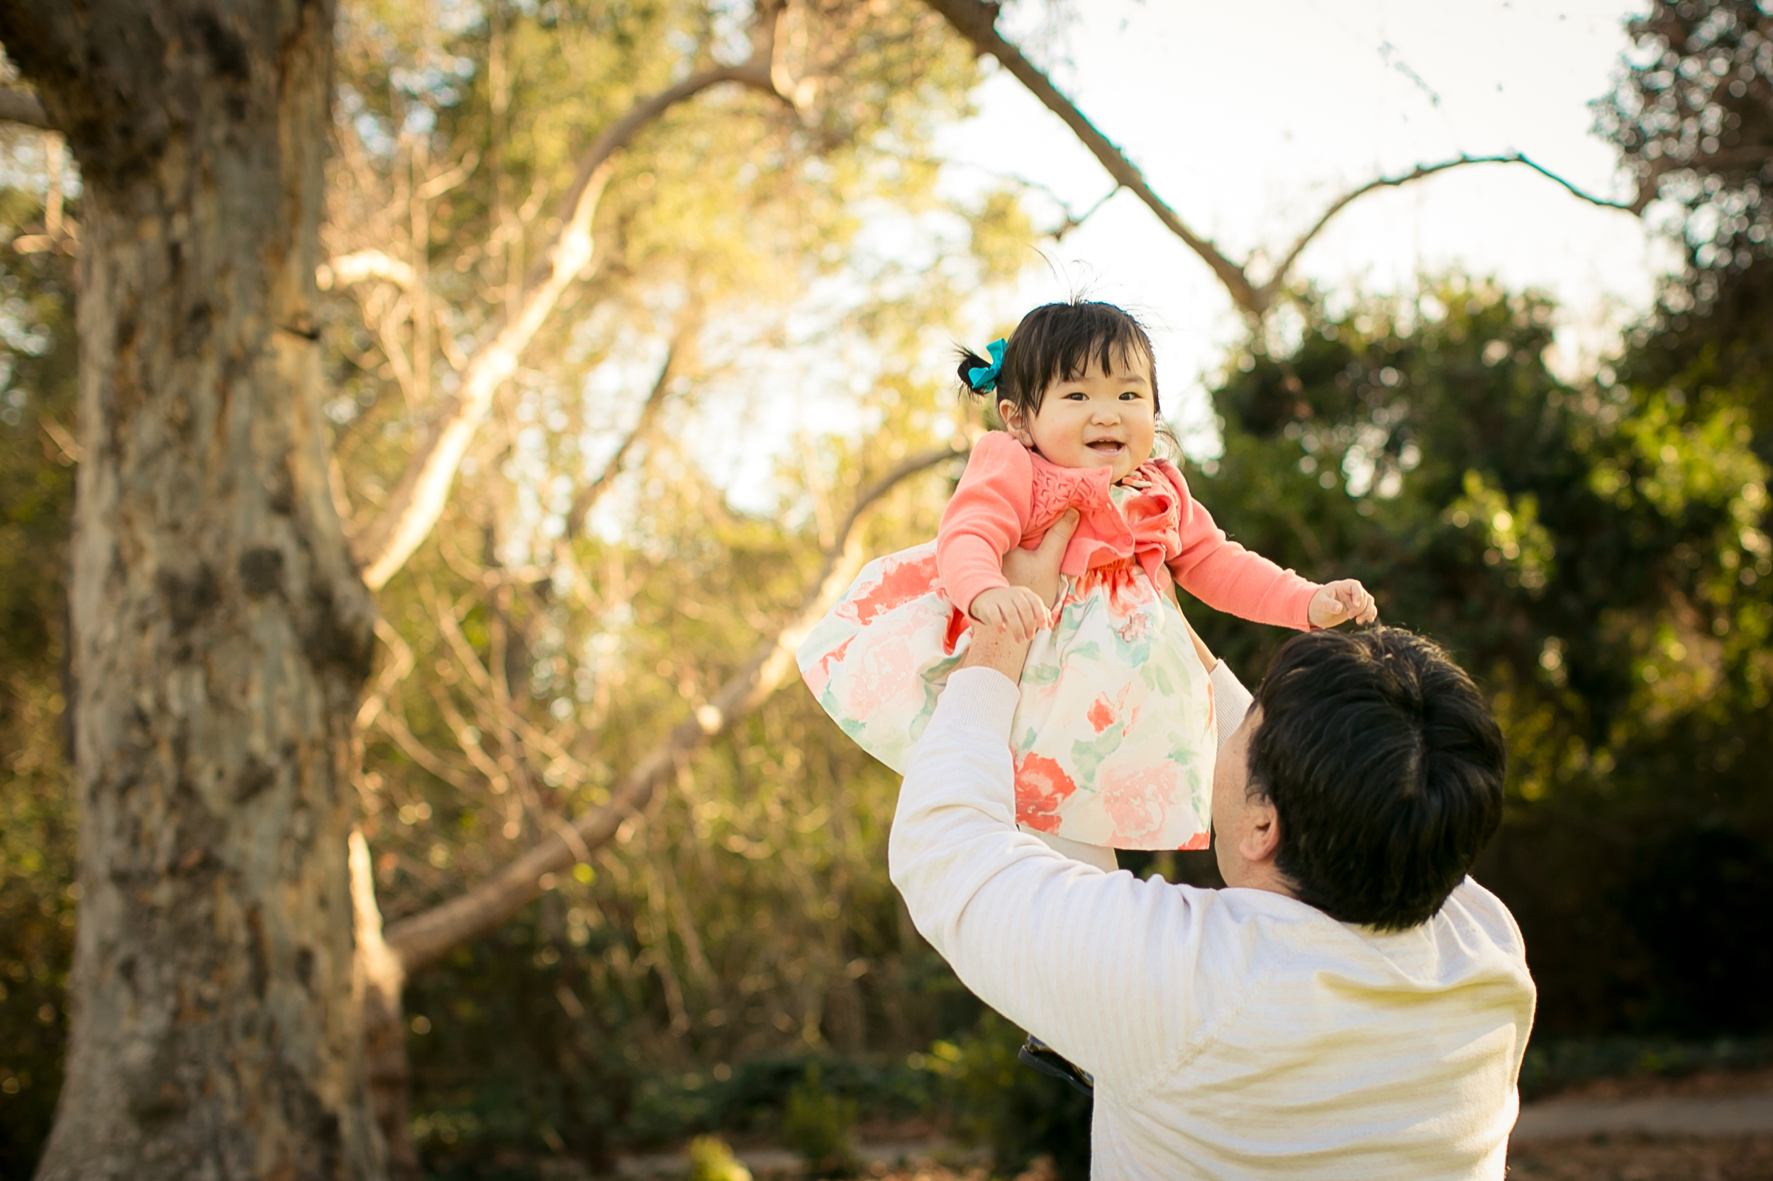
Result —
[[[1502,823],[1502,729],[1472,677],[1399,628],[1310,631],[1257,692],[1250,793],[1300,901],[1381,931],[1427,922]]]

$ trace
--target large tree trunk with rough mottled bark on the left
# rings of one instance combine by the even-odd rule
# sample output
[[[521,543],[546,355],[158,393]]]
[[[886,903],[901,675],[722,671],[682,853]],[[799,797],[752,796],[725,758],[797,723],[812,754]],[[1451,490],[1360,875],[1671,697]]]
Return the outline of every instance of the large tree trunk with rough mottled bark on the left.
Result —
[[[5,0],[85,183],[80,931],[39,1177],[378,1177],[314,340],[330,0]]]

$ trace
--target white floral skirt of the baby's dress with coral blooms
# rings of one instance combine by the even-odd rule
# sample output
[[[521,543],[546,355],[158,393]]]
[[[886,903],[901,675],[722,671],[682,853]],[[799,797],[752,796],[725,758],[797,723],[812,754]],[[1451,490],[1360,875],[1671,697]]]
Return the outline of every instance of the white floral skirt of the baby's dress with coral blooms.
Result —
[[[1213,697],[1161,585],[1142,560],[1066,580],[1011,729],[1018,823],[1121,849],[1206,848]],[[926,543],[865,566],[798,660],[844,732],[902,773],[968,635]]]

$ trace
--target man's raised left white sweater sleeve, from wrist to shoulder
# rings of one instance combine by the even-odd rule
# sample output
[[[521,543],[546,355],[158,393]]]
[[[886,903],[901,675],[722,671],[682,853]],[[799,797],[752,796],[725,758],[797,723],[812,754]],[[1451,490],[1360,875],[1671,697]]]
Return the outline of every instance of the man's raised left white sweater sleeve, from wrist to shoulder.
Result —
[[[1099,1083],[1136,1087],[1200,1027],[1211,890],[1069,860],[1016,830],[1018,686],[961,669],[906,770],[888,872],[966,986]],[[1236,979],[1236,972],[1232,972]]]

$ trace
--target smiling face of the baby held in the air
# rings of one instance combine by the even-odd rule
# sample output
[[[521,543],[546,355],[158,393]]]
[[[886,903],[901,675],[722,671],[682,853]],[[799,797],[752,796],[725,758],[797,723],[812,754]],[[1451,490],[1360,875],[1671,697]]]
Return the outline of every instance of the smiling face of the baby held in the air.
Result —
[[[1126,360],[1119,358],[1117,365]],[[1025,447],[1062,468],[1110,468],[1119,482],[1151,458],[1158,406],[1151,364],[1103,372],[1097,358],[1083,376],[1046,387],[1041,410],[1027,418],[1009,401],[998,404],[1004,424]]]

